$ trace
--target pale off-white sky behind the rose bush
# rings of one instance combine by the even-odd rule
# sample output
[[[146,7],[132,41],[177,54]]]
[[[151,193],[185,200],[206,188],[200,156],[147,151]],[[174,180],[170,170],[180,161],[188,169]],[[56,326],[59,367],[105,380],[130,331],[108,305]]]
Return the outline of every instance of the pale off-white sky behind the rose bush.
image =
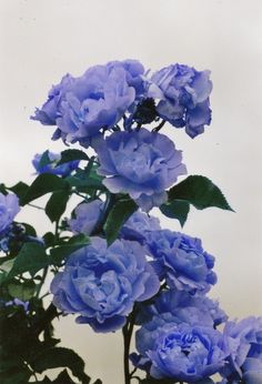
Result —
[[[223,190],[236,213],[209,209],[190,213],[184,232],[203,239],[216,256],[212,290],[231,317],[262,311],[261,254],[261,0],[0,0],[0,182],[32,181],[30,161],[51,142],[52,128],[29,120],[52,83],[66,72],[134,58],[147,68],[180,62],[210,69],[213,122],[191,140],[172,128],[189,173],[203,174]],[[18,220],[48,222],[28,210]],[[175,221],[163,224],[179,230]],[[57,335],[75,348],[88,372],[121,384],[121,337],[95,335],[72,317]]]

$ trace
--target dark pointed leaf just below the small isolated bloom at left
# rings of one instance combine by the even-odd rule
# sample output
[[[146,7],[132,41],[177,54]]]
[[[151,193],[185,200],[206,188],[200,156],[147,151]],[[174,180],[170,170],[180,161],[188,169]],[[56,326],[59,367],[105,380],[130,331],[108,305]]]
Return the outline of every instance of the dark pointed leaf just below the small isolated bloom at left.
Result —
[[[29,186],[26,195],[22,198],[21,205],[26,205],[31,201],[43,196],[46,193],[69,190],[69,184],[66,180],[56,174],[42,173]]]

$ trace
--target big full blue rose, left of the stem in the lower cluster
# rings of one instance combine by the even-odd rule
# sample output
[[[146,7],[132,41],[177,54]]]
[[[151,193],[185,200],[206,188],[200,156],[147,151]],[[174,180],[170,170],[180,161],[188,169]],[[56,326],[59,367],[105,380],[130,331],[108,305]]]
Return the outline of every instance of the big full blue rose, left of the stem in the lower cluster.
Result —
[[[137,242],[107,242],[93,238],[91,245],[74,252],[51,284],[53,303],[64,313],[78,313],[79,323],[95,332],[122,327],[134,302],[152,297],[160,282]]]

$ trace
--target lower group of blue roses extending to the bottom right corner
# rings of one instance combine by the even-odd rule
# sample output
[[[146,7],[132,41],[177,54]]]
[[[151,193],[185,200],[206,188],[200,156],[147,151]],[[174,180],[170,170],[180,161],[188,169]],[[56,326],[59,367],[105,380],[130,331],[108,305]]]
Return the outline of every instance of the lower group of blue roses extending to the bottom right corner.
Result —
[[[102,206],[100,200],[81,203],[69,229],[92,234]],[[134,311],[140,329],[130,360],[157,380],[209,384],[220,373],[221,384],[261,383],[262,319],[230,322],[206,296],[216,276],[201,240],[161,230],[157,218],[140,211],[109,247],[90,239],[52,282],[60,310],[79,314],[77,322],[95,332],[121,329]]]

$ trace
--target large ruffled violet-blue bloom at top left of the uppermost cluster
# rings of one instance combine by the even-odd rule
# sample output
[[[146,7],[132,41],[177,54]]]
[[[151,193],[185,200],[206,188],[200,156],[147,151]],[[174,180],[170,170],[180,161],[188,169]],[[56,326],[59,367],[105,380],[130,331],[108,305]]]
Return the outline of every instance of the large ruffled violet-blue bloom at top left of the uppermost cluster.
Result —
[[[57,124],[54,140],[89,146],[93,135],[114,127],[140,100],[143,72],[138,61],[125,60],[92,67],[79,78],[68,75],[32,119]]]

